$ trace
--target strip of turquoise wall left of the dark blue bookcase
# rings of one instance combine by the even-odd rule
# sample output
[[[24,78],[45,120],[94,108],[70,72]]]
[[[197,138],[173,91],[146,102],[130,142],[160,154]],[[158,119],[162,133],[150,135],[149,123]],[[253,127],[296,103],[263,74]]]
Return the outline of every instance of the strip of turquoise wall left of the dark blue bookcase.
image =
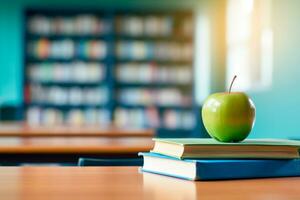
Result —
[[[0,27],[0,103],[20,104],[23,42],[19,6],[1,3]]]

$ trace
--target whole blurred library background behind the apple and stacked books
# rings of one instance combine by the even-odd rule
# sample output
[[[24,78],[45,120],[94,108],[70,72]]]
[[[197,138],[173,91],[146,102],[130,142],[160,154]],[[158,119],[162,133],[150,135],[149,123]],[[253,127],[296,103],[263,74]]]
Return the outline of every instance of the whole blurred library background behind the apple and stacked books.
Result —
[[[201,105],[235,74],[232,91],[256,106],[249,137],[299,138],[290,1],[1,2],[0,159],[136,156],[153,137],[207,137]]]

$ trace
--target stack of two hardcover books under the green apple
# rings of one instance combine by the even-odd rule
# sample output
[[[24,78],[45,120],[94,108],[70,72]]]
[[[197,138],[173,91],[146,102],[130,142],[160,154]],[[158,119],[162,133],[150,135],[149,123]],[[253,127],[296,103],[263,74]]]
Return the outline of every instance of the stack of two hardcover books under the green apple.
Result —
[[[300,141],[248,139],[154,139],[142,170],[188,180],[300,176]]]

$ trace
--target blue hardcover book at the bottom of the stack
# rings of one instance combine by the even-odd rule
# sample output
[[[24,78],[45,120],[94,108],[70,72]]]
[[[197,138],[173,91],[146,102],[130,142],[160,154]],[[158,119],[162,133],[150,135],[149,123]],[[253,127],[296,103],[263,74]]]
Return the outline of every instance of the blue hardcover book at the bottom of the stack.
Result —
[[[188,180],[224,180],[300,176],[300,159],[177,159],[156,153],[144,157],[142,171]]]

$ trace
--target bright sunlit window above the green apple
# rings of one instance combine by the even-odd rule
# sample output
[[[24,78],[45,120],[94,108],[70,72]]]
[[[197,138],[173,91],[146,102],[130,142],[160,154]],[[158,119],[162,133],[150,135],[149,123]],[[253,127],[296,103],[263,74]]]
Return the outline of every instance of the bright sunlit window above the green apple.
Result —
[[[265,89],[272,83],[271,0],[228,0],[227,73],[236,90]]]

